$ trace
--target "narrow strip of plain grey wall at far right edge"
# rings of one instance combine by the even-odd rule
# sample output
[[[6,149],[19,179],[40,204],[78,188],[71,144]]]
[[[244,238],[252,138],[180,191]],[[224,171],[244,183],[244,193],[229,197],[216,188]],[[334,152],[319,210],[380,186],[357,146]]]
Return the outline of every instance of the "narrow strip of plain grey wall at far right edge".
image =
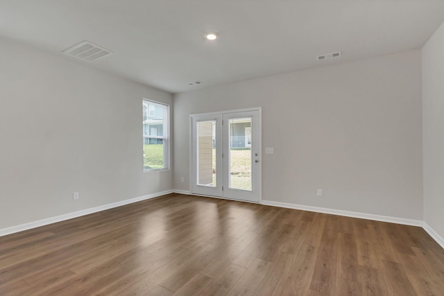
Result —
[[[443,53],[444,24],[422,48],[424,220],[441,238],[444,238]]]

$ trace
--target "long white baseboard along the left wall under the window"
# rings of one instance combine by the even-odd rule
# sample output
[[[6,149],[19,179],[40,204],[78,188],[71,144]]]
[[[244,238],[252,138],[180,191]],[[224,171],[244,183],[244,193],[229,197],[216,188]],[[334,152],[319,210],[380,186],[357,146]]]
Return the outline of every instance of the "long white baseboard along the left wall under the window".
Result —
[[[121,206],[123,206],[125,204],[132,204],[133,202],[140,202],[142,200],[149,200],[150,198],[157,198],[158,196],[166,195],[166,194],[169,194],[169,193],[173,193],[173,190],[167,190],[167,191],[152,193],[152,194],[140,196],[138,198],[130,198],[129,200],[122,200],[120,202],[113,202],[112,204],[104,204],[104,205],[99,206],[99,207],[92,207],[92,208],[89,208],[89,209],[83,209],[81,211],[74,211],[72,213],[63,214],[63,215],[60,215],[60,216],[55,216],[55,217],[46,218],[46,219],[42,219],[42,220],[37,220],[37,221],[34,221],[34,222],[22,224],[22,225],[17,225],[17,226],[12,226],[12,227],[8,227],[8,228],[3,228],[3,229],[0,229],[0,236],[6,236],[8,234],[15,234],[16,232],[22,232],[24,230],[32,229],[32,228],[35,228],[35,227],[49,225],[49,224],[52,224],[52,223],[57,223],[57,222],[64,221],[64,220],[69,220],[69,219],[72,219],[72,218],[78,218],[80,216],[85,216],[85,215],[88,215],[88,214],[93,214],[93,213],[96,213],[98,211],[105,211],[106,209],[112,209],[114,207],[121,207]]]

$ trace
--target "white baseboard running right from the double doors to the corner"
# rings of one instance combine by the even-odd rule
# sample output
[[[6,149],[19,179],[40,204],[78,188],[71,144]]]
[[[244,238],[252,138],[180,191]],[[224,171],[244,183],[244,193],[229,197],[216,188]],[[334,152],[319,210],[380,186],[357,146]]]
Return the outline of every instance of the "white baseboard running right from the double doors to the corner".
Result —
[[[285,202],[273,202],[271,200],[262,200],[262,204],[268,205],[268,206],[273,206],[273,207],[300,209],[303,211],[314,211],[314,212],[323,213],[323,214],[332,214],[332,215],[346,216],[346,217],[352,217],[352,218],[376,220],[376,221],[382,221],[382,222],[388,222],[388,223],[398,223],[398,224],[403,224],[403,225],[412,225],[412,226],[420,226],[420,227],[422,227],[422,225],[424,225],[422,220],[396,218],[396,217],[389,217],[389,216],[379,216],[379,215],[374,215],[374,214],[359,213],[359,212],[355,212],[355,211],[341,211],[338,209],[327,209],[327,208],[323,208],[323,207],[310,207],[310,206],[304,206],[301,204],[288,204]]]

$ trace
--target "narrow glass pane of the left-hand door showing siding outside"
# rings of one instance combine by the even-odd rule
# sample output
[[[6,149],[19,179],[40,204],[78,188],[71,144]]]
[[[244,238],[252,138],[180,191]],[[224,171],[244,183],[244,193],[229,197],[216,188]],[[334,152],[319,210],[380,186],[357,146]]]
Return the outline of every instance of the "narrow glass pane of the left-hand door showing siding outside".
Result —
[[[197,123],[197,184],[216,186],[216,121]]]

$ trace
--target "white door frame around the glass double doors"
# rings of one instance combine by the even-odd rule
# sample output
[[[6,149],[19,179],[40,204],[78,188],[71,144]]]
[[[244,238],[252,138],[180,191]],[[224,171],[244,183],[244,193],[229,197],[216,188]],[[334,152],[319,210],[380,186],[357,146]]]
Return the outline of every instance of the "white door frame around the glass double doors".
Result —
[[[205,194],[200,194],[200,193],[193,193],[193,170],[192,170],[192,166],[193,166],[193,139],[192,139],[192,130],[193,130],[193,121],[192,118],[193,116],[223,116],[223,114],[228,114],[228,113],[238,113],[238,112],[250,112],[250,111],[257,111],[257,125],[259,128],[259,139],[257,139],[257,147],[259,147],[259,169],[256,170],[256,173],[258,174],[258,179],[259,179],[259,184],[257,184],[257,191],[259,194],[259,204],[262,204],[262,107],[250,107],[250,108],[242,108],[242,109],[234,109],[234,110],[223,110],[223,111],[219,111],[219,112],[205,112],[205,113],[194,113],[194,114],[189,114],[189,120],[188,120],[188,135],[189,135],[189,141],[188,141],[188,149],[189,149],[189,192],[192,195],[200,195],[200,196],[205,196],[208,198],[221,198],[224,200],[237,200],[237,199],[233,199],[233,198],[225,198],[223,196],[215,196],[215,195],[205,195]],[[254,140],[253,140],[254,141]],[[253,153],[253,152],[252,152]],[[240,202],[250,202],[248,200],[237,200]],[[256,202],[253,202],[256,203]]]

